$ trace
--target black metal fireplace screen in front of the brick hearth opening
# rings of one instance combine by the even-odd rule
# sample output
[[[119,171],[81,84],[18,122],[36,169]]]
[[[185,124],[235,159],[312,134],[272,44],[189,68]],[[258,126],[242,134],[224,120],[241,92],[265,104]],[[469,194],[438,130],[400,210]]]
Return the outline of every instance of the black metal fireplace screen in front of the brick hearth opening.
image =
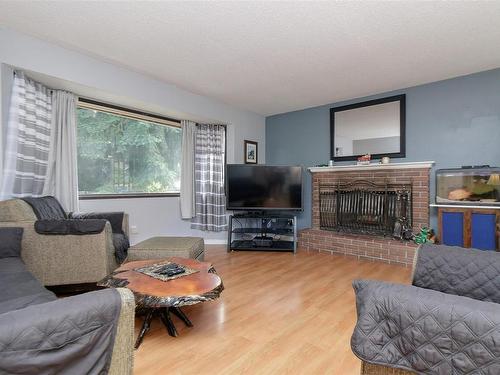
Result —
[[[319,187],[320,227],[350,233],[388,236],[411,228],[412,183],[366,180]]]

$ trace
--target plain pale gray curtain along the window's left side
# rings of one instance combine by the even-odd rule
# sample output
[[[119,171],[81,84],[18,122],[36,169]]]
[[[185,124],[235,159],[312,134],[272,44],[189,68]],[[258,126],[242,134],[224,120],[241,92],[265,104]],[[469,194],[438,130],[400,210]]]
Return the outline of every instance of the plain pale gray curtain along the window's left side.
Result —
[[[77,97],[72,93],[53,93],[50,152],[43,195],[55,196],[66,211],[78,211],[76,103]]]

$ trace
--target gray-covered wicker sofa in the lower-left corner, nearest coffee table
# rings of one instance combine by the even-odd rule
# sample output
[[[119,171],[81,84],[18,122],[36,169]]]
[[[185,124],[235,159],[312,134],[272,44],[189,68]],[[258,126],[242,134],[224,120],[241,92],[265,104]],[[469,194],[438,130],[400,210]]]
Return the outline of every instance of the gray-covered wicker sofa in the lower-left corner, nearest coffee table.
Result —
[[[128,289],[57,299],[19,257],[0,257],[0,374],[130,375]]]

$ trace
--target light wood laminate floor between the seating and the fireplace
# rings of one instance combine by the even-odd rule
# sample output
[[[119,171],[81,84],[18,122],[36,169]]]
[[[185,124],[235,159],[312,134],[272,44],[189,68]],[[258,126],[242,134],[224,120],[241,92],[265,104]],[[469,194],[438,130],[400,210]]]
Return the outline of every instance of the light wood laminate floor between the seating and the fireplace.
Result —
[[[408,283],[410,270],[315,252],[233,252],[207,246],[219,300],[186,306],[194,327],[159,320],[135,353],[134,374],[359,374],[349,341],[357,278]],[[142,321],[136,320],[136,334]]]

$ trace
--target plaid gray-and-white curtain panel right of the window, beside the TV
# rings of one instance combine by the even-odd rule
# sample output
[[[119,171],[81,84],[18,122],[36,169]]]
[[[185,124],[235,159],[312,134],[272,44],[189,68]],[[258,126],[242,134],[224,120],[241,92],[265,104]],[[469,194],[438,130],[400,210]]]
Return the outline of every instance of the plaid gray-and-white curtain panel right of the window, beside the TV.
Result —
[[[198,124],[195,136],[195,217],[191,228],[220,232],[227,229],[224,195],[226,128]]]

